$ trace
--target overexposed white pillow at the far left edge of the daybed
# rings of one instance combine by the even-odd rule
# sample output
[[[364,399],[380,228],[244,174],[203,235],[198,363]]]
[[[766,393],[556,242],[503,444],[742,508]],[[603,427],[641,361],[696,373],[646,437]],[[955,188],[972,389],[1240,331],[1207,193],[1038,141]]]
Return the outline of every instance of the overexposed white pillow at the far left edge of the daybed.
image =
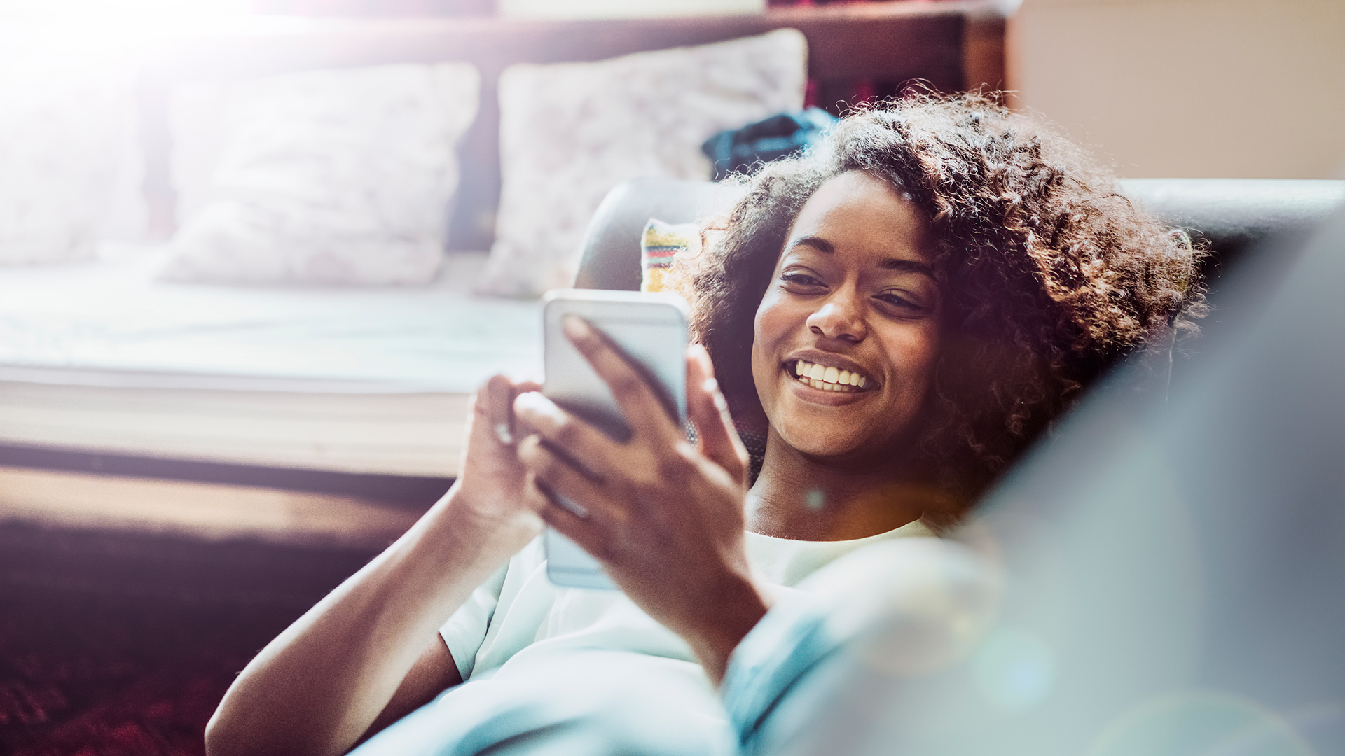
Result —
[[[47,74],[22,63],[0,65],[0,265],[91,258],[110,225],[121,237],[143,231],[134,192],[117,191],[120,172],[134,168],[130,71]],[[139,210],[141,227],[120,227],[114,209]]]

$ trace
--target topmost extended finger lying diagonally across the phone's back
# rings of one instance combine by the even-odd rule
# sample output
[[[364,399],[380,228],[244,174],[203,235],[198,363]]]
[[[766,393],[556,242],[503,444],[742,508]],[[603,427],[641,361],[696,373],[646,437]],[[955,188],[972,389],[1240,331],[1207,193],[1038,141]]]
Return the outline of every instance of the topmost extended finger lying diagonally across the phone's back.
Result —
[[[667,444],[682,437],[670,408],[650,386],[648,379],[586,320],[568,315],[561,322],[565,336],[589,361],[599,378],[607,382],[621,408],[621,414],[636,434],[662,439]]]

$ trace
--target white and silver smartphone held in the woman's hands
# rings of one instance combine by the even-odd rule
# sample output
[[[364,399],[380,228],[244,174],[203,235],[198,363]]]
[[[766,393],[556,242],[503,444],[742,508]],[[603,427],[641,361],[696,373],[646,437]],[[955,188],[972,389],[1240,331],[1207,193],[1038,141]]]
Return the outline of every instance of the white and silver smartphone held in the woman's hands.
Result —
[[[561,320],[573,313],[603,331],[659,393],[668,416],[678,425],[686,424],[687,307],[682,297],[662,292],[557,289],[547,292],[542,303],[542,394],[619,441],[631,437],[612,391],[565,338]],[[551,495],[560,506],[586,511],[584,502]],[[577,543],[550,527],[543,539],[546,576],[551,582],[569,588],[616,588],[597,560]]]

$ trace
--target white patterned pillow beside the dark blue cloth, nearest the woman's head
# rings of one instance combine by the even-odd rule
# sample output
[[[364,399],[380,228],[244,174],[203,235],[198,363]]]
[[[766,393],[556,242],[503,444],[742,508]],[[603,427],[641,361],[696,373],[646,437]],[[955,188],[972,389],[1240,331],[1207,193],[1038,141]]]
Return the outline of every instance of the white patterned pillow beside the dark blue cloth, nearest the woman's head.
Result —
[[[795,30],[510,66],[499,86],[495,246],[479,291],[537,296],[572,285],[584,230],[609,188],[635,176],[709,179],[701,143],[803,108],[806,81],[807,42]]]

